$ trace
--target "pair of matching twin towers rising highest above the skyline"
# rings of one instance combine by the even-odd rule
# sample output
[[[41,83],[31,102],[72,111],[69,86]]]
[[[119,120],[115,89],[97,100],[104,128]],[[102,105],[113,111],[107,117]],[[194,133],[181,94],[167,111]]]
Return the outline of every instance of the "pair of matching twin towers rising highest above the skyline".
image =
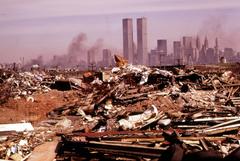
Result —
[[[133,42],[133,20],[125,18],[123,24],[123,56],[132,64],[148,63],[147,19],[137,19],[137,51]]]

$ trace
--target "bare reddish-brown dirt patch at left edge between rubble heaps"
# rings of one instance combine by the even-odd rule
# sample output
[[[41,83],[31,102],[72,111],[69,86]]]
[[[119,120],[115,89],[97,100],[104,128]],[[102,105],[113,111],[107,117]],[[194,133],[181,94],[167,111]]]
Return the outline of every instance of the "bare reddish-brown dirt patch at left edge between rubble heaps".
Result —
[[[38,93],[33,96],[34,102],[25,98],[10,99],[0,105],[0,123],[16,123],[30,121],[36,123],[46,118],[46,114],[54,108],[69,104],[78,99],[76,91],[56,91]]]

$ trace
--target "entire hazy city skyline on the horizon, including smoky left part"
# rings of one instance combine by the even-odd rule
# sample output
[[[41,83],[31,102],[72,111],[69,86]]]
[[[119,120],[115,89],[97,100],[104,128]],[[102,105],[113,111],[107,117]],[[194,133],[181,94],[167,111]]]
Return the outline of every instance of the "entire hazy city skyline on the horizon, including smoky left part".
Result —
[[[240,52],[229,47],[220,48],[218,38],[215,38],[214,45],[210,46],[207,36],[201,41],[202,35],[183,36],[181,40],[173,41],[170,45],[167,39],[158,38],[156,47],[149,49],[147,29],[146,17],[136,19],[136,34],[133,29],[133,19],[122,19],[123,56],[131,64],[167,66],[240,62]],[[136,43],[134,35],[137,36]],[[67,54],[53,56],[48,64],[44,64],[43,57],[39,56],[27,63],[24,58],[21,58],[20,63],[0,64],[0,69],[31,68],[35,64],[41,67],[76,70],[98,70],[114,66],[113,56],[120,53],[113,53],[111,49],[103,48],[101,41],[96,41],[94,45],[86,47],[85,41],[86,34],[80,33],[72,40]],[[83,55],[87,57],[83,58]]]

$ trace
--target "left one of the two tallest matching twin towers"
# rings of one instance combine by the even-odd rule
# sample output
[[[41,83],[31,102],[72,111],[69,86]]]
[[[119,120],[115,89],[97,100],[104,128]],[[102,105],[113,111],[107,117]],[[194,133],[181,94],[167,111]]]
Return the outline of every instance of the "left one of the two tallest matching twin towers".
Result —
[[[123,56],[133,63],[133,24],[131,18],[122,20],[123,24]]]

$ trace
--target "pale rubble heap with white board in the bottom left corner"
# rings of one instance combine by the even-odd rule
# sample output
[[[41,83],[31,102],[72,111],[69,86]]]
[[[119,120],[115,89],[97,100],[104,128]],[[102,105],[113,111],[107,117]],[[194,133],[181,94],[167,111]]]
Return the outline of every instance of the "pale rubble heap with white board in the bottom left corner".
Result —
[[[10,130],[9,127],[13,129]],[[27,160],[35,147],[52,141],[54,136],[53,131],[43,127],[33,129],[30,123],[7,124],[5,127],[0,125],[0,158]]]

